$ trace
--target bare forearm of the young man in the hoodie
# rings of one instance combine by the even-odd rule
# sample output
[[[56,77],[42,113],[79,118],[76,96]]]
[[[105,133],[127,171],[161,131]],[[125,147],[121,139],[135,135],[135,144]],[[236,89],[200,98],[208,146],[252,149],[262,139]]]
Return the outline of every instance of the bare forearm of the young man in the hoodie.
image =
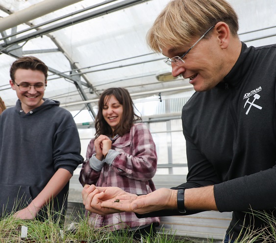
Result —
[[[71,177],[72,174],[68,170],[62,168],[58,169],[44,189],[29,204],[28,208],[30,211],[38,213],[42,207],[47,205],[50,200],[58,195]]]

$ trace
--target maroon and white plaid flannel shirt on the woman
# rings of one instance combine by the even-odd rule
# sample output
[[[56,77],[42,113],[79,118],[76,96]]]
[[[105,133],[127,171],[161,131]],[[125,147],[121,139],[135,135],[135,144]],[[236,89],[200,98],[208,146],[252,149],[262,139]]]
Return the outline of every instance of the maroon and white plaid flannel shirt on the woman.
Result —
[[[113,161],[108,161],[112,157],[108,156],[108,152],[100,171],[93,170],[89,163],[92,155],[96,154],[94,141],[95,138],[88,145],[86,160],[79,176],[83,186],[117,186],[132,194],[148,194],[155,190],[151,178],[157,167],[156,148],[145,124],[136,123],[128,133],[113,139],[109,152],[115,150],[118,155]],[[158,217],[138,219],[134,213],[129,212],[106,216],[90,213],[90,221],[94,227],[109,225],[111,230],[139,227],[153,222],[159,224]]]

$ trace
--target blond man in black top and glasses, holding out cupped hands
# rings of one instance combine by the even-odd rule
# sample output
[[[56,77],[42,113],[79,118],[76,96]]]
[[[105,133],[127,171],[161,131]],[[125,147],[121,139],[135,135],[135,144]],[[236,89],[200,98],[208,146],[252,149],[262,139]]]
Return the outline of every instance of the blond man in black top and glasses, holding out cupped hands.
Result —
[[[225,243],[275,230],[276,45],[247,47],[237,32],[225,0],[173,0],[160,13],[148,43],[197,91],[182,110],[187,182],[139,197],[86,185],[86,209],[137,217],[233,211]]]

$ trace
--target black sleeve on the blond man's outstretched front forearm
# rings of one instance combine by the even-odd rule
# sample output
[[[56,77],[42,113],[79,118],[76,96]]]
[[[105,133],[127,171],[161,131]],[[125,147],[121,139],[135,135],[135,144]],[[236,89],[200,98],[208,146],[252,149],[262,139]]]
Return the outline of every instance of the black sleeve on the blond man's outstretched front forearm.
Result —
[[[219,211],[269,210],[276,207],[276,166],[214,186]]]

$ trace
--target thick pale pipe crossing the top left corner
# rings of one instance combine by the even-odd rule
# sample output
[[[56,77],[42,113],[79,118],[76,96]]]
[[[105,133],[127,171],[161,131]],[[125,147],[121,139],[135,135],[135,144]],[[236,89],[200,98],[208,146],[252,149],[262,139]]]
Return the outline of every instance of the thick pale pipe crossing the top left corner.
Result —
[[[81,0],[44,0],[0,19],[0,32],[19,24],[34,20],[55,10],[64,8]]]

